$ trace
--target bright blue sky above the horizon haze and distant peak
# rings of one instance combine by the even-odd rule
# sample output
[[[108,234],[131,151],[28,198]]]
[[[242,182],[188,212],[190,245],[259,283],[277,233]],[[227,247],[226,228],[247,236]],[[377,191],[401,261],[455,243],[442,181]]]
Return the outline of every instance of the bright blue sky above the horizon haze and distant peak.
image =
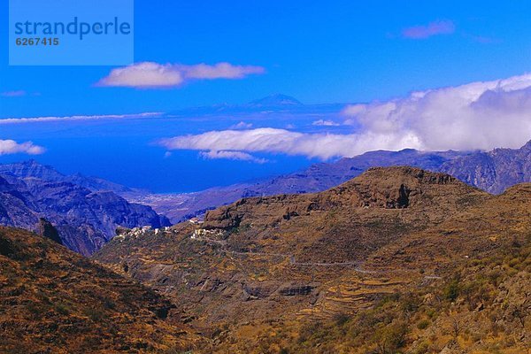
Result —
[[[3,50],[0,91],[41,96],[3,99],[1,113],[19,117],[167,111],[244,103],[275,92],[304,103],[365,102],[413,89],[504,78],[530,68],[529,13],[528,2],[137,0],[135,61],[226,61],[261,65],[266,74],[162,91],[103,89],[92,85],[109,72],[108,66],[10,67]],[[453,21],[455,33],[426,40],[400,37],[406,27],[437,19]],[[474,36],[493,42],[474,41]],[[6,48],[6,35],[1,40]]]

